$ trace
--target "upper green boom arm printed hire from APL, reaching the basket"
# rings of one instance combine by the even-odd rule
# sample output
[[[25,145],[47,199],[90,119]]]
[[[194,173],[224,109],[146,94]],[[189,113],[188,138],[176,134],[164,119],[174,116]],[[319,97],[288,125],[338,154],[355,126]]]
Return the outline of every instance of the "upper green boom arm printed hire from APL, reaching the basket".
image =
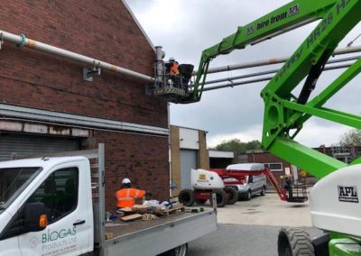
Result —
[[[216,58],[220,54],[228,54],[232,50],[244,49],[247,45],[271,39],[283,32],[291,31],[318,20],[335,5],[335,2],[335,0],[321,0],[310,4],[310,0],[292,1],[272,13],[255,20],[253,23],[239,26],[234,34],[227,36],[218,44],[203,50],[194,90],[189,100],[200,100],[211,59]]]

